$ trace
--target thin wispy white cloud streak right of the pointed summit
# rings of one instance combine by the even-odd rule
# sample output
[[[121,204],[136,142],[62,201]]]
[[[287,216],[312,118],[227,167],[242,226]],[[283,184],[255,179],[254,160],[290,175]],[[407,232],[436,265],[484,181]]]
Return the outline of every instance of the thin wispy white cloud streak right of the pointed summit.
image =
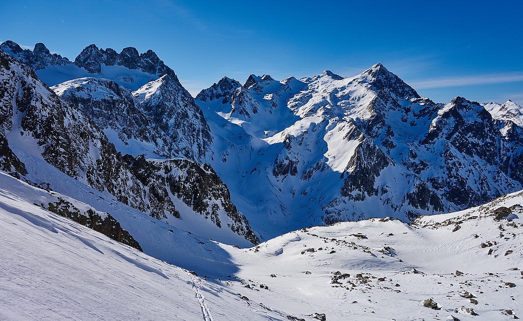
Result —
[[[434,78],[427,80],[410,81],[409,83],[413,87],[418,89],[433,89],[472,85],[501,84],[518,81],[523,81],[523,72]]]

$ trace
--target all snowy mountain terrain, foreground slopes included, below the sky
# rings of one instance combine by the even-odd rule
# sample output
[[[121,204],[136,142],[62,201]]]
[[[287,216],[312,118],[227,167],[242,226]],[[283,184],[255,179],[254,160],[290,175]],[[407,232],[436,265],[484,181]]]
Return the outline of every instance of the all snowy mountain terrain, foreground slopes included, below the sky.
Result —
[[[5,41],[0,230],[1,320],[517,319],[523,108]]]

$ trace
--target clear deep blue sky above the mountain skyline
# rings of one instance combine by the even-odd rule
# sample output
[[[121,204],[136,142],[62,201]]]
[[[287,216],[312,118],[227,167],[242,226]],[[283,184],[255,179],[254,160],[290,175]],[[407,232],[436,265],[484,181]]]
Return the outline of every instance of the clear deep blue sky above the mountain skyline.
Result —
[[[422,96],[523,103],[523,1],[8,1],[0,40],[154,50],[192,93],[381,62]]]

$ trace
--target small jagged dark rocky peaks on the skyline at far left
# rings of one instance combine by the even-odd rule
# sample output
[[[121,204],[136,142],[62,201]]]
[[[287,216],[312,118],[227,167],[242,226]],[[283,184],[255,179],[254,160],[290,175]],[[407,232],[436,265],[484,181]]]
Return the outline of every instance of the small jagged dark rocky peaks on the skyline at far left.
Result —
[[[41,42],[37,43],[33,50],[30,50],[22,49],[18,43],[7,40],[0,45],[0,49],[30,65],[35,70],[44,69],[47,65],[65,65],[71,63],[69,59],[57,53],[51,53],[46,45]]]

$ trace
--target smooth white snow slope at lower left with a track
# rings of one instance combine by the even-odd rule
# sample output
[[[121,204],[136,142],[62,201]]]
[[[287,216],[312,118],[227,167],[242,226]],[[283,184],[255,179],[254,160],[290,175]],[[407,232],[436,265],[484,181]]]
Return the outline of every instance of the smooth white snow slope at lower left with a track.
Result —
[[[0,319],[281,319],[0,187]],[[30,192],[18,186],[19,193]],[[26,195],[36,197],[35,194]],[[44,192],[40,197],[45,197]]]

